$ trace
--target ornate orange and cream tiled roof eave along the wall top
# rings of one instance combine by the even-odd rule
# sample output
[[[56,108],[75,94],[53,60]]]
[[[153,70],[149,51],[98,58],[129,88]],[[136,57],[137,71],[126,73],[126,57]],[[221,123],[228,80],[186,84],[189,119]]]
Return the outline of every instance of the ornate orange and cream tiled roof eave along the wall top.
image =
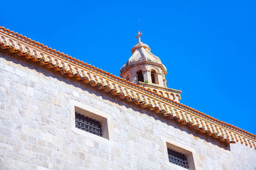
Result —
[[[183,125],[188,125],[195,131],[208,134],[226,143],[239,142],[256,149],[255,134],[221,122],[184,104],[166,99],[140,85],[109,74],[102,71],[102,69],[60,53],[4,27],[0,27],[0,46],[1,49],[10,53],[40,63],[47,69],[88,83],[92,87],[111,92],[114,96],[138,104],[143,108],[154,110],[156,113],[162,113],[165,117],[170,117],[170,119],[174,119]]]

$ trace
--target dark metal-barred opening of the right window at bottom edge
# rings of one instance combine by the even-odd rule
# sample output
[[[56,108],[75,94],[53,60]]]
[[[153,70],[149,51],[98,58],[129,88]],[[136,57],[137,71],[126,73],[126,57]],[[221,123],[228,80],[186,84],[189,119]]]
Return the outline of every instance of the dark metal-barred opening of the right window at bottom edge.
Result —
[[[168,157],[169,162],[188,169],[188,160],[184,154],[168,148]]]

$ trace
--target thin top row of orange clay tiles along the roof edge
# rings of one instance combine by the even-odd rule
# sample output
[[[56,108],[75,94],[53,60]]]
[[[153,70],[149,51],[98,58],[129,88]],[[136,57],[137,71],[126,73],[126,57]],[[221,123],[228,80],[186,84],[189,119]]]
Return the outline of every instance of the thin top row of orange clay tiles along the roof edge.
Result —
[[[11,34],[15,34],[15,35],[19,36],[20,38],[26,39],[27,41],[30,41],[30,43],[35,43],[36,45],[39,45],[39,46],[45,48],[46,50],[49,50],[49,51],[54,52],[54,53],[58,53],[59,55],[62,55],[63,57],[67,57],[68,59],[72,59],[72,60],[74,60],[74,61],[76,61],[76,62],[79,62],[80,64],[84,64],[85,66],[88,66],[88,67],[90,67],[90,68],[92,68],[92,69],[95,69],[95,70],[100,71],[100,72],[102,72],[102,73],[108,74],[109,76],[111,76],[111,77],[113,77],[113,78],[116,78],[116,79],[118,79],[118,80],[120,80],[120,81],[125,81],[126,83],[129,83],[129,84],[131,84],[131,85],[134,85],[134,86],[136,86],[136,87],[139,87],[139,88],[141,88],[141,89],[143,89],[143,90],[147,90],[148,92],[151,92],[152,94],[155,94],[155,95],[157,95],[157,96],[159,96],[159,97],[163,97],[163,96],[160,96],[159,94],[157,94],[156,92],[153,92],[153,91],[150,90],[150,89],[145,89],[144,87],[142,87],[142,86],[140,86],[140,85],[137,85],[137,84],[135,84],[135,83],[132,83],[131,81],[127,81],[127,80],[125,80],[125,79],[123,79],[123,78],[120,78],[119,76],[115,76],[115,75],[112,74],[112,73],[109,73],[109,72],[107,72],[107,71],[104,71],[104,70],[102,70],[102,69],[99,69],[98,67],[92,66],[91,64],[87,64],[86,62],[83,62],[82,60],[76,59],[75,57],[72,57],[72,56],[67,55],[67,54],[65,54],[65,53],[63,53],[63,52],[57,51],[57,50],[55,50],[55,49],[52,49],[51,47],[48,47],[47,45],[44,45],[43,43],[39,43],[38,41],[35,41],[35,40],[31,39],[31,38],[27,38],[26,36],[22,36],[22,34],[19,34],[19,33],[17,33],[17,32],[10,31],[10,29],[6,29],[6,28],[3,27],[3,26],[2,26],[2,27],[0,26],[0,29],[3,29],[4,31],[7,31],[7,32],[9,32],[9,33],[11,33]],[[33,44],[32,44],[32,45],[33,45]],[[199,113],[200,115],[203,115],[204,117],[211,118],[212,120],[215,120],[216,122],[220,122],[221,124],[225,124],[225,125],[227,125],[227,126],[230,126],[230,127],[234,128],[234,129],[237,129],[237,130],[239,130],[239,131],[242,131],[242,132],[244,132],[244,133],[246,133],[246,134],[248,134],[248,135],[253,136],[253,137],[256,138],[256,135],[255,135],[255,134],[252,134],[252,133],[250,133],[250,132],[248,132],[248,131],[244,131],[243,129],[241,129],[241,128],[239,128],[239,127],[236,127],[236,126],[234,126],[234,125],[232,125],[232,124],[228,124],[228,123],[226,123],[226,122],[223,122],[223,121],[221,121],[221,120],[218,120],[217,118],[211,117],[211,116],[209,116],[209,115],[207,115],[207,114],[205,114],[205,113],[202,113],[201,111],[198,111],[198,110],[195,110],[194,108],[191,108],[191,107],[189,107],[189,106],[186,106],[185,104],[177,103],[176,101],[173,101],[173,100],[168,99],[168,98],[166,98],[166,97],[163,97],[163,98],[166,99],[166,100],[168,100],[168,101],[170,101],[170,102],[172,102],[172,103],[175,103],[175,104],[177,104],[177,105],[179,105],[179,106],[182,106],[182,107],[184,107],[184,108],[187,108],[188,110],[195,111],[196,113]]]

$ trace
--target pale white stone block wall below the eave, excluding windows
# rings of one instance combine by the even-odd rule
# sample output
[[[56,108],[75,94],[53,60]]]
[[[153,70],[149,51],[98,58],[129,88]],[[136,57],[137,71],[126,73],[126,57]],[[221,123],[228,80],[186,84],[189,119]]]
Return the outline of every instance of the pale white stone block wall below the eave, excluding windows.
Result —
[[[72,131],[70,100],[113,118],[113,144]],[[256,150],[224,145],[19,57],[0,53],[0,169],[173,169],[163,138],[195,150],[196,169],[255,169]]]

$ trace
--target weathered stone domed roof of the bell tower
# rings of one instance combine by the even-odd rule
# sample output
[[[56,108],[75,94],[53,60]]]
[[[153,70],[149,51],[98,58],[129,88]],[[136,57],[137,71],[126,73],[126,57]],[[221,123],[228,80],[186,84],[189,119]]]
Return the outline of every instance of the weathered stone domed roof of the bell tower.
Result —
[[[139,41],[135,46],[133,46],[133,48],[131,50],[132,56],[124,64],[124,66],[122,66],[122,68],[120,69],[120,72],[123,73],[129,66],[143,64],[143,63],[147,62],[148,64],[153,64],[153,65],[156,64],[156,65],[162,66],[163,71],[166,74],[167,73],[166,67],[162,64],[159,57],[157,57],[150,51],[151,51],[151,49],[149,48],[148,45]]]

